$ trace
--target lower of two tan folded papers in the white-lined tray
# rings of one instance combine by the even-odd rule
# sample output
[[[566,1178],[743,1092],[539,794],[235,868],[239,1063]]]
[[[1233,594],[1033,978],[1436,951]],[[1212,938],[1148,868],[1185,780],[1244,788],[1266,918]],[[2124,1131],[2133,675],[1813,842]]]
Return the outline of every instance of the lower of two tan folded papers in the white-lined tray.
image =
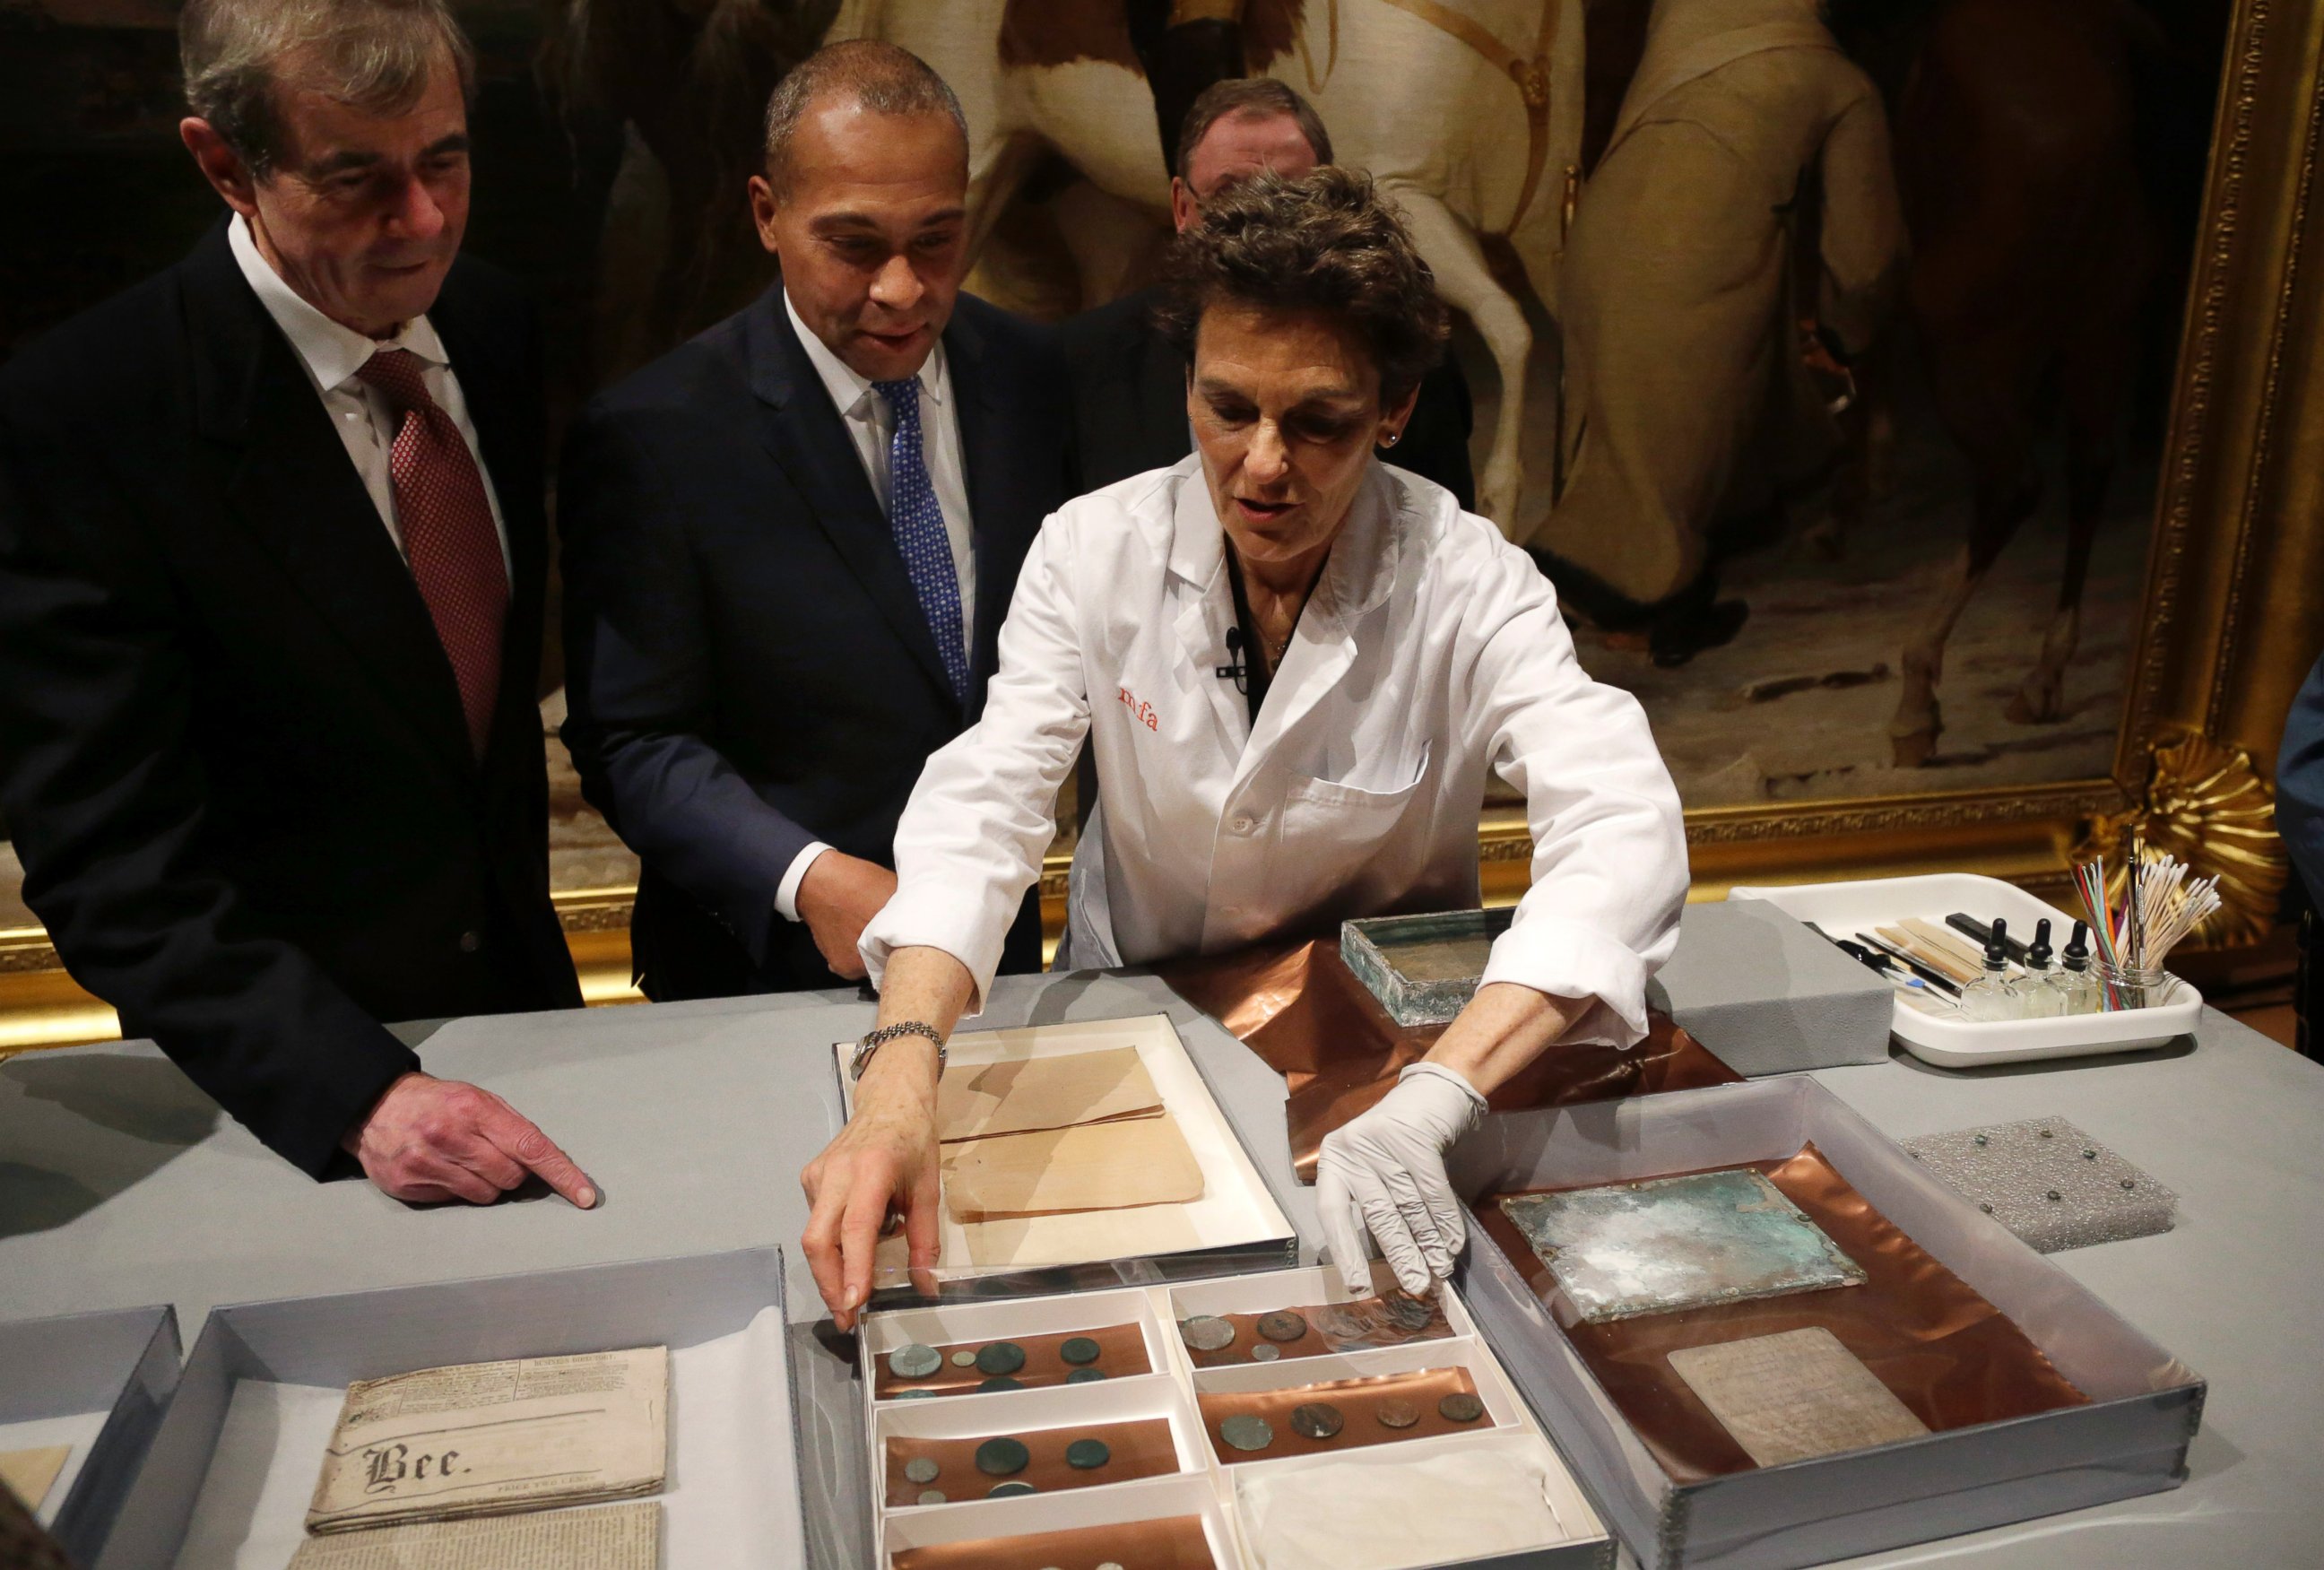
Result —
[[[1176,1205],[1202,1198],[1202,1166],[1164,1112],[946,1145],[944,1198],[955,1222]]]

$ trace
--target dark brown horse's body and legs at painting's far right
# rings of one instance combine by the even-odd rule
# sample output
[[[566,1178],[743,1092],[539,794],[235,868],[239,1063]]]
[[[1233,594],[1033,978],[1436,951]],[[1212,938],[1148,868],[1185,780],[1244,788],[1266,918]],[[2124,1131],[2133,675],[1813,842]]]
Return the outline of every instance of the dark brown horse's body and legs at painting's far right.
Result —
[[[2108,332],[2131,341],[2126,314],[2143,295],[2143,255],[2133,246],[2124,265],[2122,251],[2138,239],[2136,179],[2129,209],[2117,179],[2133,156],[2126,49],[2103,23],[2101,0],[1952,0],[1899,105],[1913,325],[1938,416],[1975,476],[1968,543],[1903,650],[1889,720],[1903,769],[1936,752],[1945,639],[2040,497],[2033,425],[2045,372],[2059,372],[2068,399],[2085,388],[2092,404],[2106,379],[2129,381],[2103,367],[2099,348]],[[2013,706],[2024,718],[2061,711],[2113,427],[2068,409],[2073,539],[2045,655]]]

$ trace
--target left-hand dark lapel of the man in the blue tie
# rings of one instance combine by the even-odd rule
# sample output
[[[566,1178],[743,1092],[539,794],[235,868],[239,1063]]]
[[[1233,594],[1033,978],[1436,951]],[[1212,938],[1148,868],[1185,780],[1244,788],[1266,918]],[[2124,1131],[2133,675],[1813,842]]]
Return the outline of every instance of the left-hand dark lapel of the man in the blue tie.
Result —
[[[760,441],[806,497],[816,525],[830,536],[904,648],[951,699],[953,680],[944,671],[944,655],[937,653],[937,636],[927,629],[927,613],[911,588],[911,574],[904,571],[904,555],[895,548],[895,532],[881,513],[878,497],[871,495],[846,420],[832,406],[823,379],[799,346],[799,334],[790,330],[781,283],[751,307],[746,344],[751,390],[765,404],[758,423]]]

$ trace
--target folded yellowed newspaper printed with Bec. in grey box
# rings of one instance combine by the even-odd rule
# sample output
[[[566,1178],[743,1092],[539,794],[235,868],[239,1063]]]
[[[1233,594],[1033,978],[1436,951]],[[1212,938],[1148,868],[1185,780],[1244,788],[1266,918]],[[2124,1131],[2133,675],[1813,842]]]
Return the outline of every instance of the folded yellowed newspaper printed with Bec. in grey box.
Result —
[[[307,1531],[653,1493],[667,1426],[667,1347],[360,1380],[323,1452]]]

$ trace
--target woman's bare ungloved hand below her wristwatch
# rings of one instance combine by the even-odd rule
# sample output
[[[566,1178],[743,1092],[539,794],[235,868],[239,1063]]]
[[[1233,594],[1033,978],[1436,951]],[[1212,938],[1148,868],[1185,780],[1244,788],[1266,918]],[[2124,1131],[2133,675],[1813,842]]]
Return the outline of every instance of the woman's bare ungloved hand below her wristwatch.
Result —
[[[909,1266],[937,1263],[944,1180],[934,1087],[937,1047],[918,1036],[890,1040],[855,1085],[848,1126],[799,1173],[811,1208],[799,1243],[841,1331],[855,1328],[871,1296],[871,1254],[890,1210],[904,1212]]]

